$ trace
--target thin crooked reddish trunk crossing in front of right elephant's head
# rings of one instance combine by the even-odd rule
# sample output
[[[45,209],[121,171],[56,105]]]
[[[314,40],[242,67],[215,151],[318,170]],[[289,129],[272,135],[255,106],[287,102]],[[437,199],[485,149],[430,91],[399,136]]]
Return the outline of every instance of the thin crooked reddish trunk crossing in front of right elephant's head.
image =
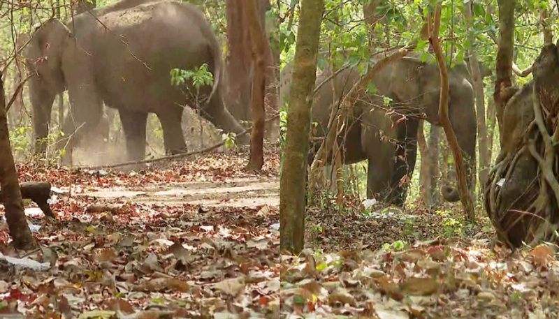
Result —
[[[429,12],[429,27],[433,25],[433,29],[430,29],[430,43],[433,44],[433,50],[435,51],[435,57],[437,58],[437,64],[439,65],[439,71],[441,76],[441,92],[439,101],[439,121],[444,133],[447,135],[447,141],[449,142],[449,147],[452,151],[454,157],[454,165],[456,165],[456,175],[458,175],[458,193],[460,194],[460,200],[464,208],[465,217],[473,221],[474,216],[474,202],[470,191],[467,189],[467,176],[464,166],[464,159],[462,156],[462,149],[458,146],[458,140],[456,140],[456,134],[452,128],[452,124],[449,119],[449,75],[447,73],[447,66],[445,65],[444,56],[439,43],[439,29],[441,23],[441,3],[437,3],[435,8],[435,16]],[[433,21],[433,24],[430,23]]]

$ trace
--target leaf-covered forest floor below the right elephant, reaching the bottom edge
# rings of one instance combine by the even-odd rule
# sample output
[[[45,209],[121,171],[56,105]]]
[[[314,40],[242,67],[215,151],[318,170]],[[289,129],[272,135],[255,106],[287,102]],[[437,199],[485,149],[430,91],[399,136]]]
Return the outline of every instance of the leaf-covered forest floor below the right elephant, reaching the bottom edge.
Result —
[[[556,245],[513,252],[481,209],[359,204],[308,209],[307,248],[282,255],[285,318],[559,318]]]

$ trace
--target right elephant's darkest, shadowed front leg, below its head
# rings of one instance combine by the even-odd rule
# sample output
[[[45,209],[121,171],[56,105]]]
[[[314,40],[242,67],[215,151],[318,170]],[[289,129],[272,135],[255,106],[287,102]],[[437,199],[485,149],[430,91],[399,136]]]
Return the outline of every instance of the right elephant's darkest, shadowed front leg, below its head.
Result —
[[[395,151],[394,170],[391,178],[390,193],[386,198],[387,202],[403,207],[409,181],[414,174],[417,156],[417,119],[408,118],[399,124],[398,147]]]

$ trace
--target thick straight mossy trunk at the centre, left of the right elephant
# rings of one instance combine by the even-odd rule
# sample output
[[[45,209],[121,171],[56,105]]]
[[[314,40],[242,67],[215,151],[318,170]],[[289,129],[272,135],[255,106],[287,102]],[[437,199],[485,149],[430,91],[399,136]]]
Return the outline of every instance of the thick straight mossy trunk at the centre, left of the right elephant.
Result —
[[[287,111],[284,163],[279,186],[280,248],[299,253],[305,245],[305,193],[310,107],[316,80],[324,0],[302,0]]]

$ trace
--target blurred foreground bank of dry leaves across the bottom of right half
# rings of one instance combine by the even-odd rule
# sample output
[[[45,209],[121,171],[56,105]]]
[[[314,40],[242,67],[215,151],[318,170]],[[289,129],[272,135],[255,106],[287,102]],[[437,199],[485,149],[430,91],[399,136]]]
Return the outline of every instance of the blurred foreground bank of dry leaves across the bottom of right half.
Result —
[[[289,318],[557,318],[559,261],[544,244],[511,254],[489,239],[402,251],[282,255]]]

